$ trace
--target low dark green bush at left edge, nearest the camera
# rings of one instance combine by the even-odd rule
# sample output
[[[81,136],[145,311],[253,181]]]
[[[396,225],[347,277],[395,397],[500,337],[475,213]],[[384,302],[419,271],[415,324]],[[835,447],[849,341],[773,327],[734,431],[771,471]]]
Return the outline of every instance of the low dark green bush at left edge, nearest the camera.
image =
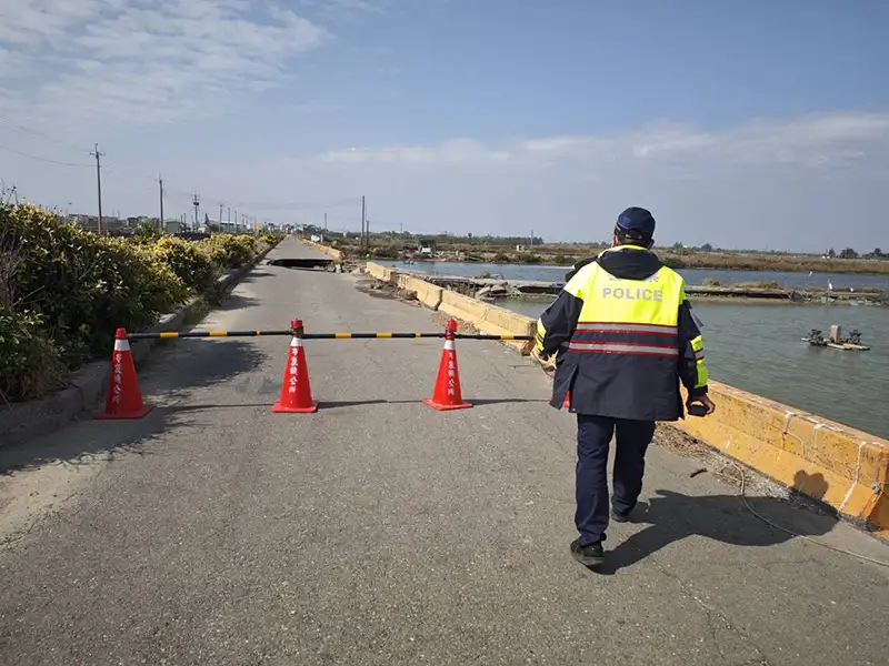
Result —
[[[61,385],[61,354],[41,323],[31,312],[0,307],[0,400],[39,397]]]

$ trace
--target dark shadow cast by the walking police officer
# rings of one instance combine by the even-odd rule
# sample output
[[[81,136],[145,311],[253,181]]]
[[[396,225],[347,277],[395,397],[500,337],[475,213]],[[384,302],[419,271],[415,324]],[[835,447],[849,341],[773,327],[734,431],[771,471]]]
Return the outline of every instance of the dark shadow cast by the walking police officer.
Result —
[[[820,496],[828,488],[820,474],[800,471],[795,476],[793,487],[803,486],[808,493],[820,492]],[[612,575],[690,536],[741,547],[775,546],[793,538],[753,515],[740,495],[689,496],[672,491],[657,491],[657,495],[648,504],[640,503],[631,514],[632,523],[649,525],[619,543],[607,553],[606,563],[592,571]],[[801,536],[822,536],[838,523],[833,515],[801,511],[778,497],[748,497],[747,501],[763,517]]]

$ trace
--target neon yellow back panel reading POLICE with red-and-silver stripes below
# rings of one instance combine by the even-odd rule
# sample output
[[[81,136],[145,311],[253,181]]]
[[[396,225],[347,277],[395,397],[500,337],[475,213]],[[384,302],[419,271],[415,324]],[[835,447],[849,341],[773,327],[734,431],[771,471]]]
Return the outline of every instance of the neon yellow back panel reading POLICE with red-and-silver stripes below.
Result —
[[[578,291],[583,307],[569,351],[678,357],[685,282],[662,268],[649,279],[621,280],[590,266]]]

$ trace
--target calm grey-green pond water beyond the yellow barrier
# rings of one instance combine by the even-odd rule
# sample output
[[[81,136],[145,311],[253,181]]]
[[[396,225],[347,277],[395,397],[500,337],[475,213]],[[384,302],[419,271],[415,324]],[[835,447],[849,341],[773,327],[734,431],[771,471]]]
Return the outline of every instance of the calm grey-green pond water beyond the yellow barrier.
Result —
[[[388,262],[386,262],[387,265]],[[397,264],[396,264],[397,265]],[[503,264],[416,263],[404,270],[475,276],[500,273],[510,280],[562,282],[568,269]],[[689,284],[706,278],[722,283],[778,281],[806,286],[830,281],[835,289],[889,289],[889,276],[748,271],[680,271]],[[498,301],[537,317],[548,301]],[[865,305],[793,305],[692,301],[703,323],[707,363],[712,379],[785,403],[798,410],[889,438],[889,307]],[[801,342],[811,329],[825,333],[840,324],[858,329],[868,352],[817,349]]]

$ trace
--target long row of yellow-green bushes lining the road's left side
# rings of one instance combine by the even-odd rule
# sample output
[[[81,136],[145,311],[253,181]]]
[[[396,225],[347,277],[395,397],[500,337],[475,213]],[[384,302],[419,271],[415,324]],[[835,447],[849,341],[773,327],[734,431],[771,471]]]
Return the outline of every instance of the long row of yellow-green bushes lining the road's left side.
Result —
[[[151,226],[99,236],[31,204],[0,205],[0,402],[41,397],[280,240],[189,242]]]

